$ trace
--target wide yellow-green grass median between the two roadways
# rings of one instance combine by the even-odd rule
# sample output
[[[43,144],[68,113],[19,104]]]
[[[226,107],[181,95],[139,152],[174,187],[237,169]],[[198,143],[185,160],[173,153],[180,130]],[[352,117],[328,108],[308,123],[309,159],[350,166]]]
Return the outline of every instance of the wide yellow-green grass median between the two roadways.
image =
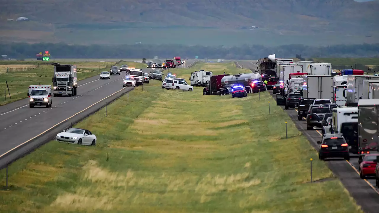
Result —
[[[191,70],[175,72],[188,78]],[[232,99],[160,85],[138,87],[107,117],[100,110],[77,124],[97,135],[96,147],[53,141],[12,164],[2,210],[361,212],[323,161],[313,161],[310,183],[317,153],[280,107],[268,115],[275,102],[267,92]]]

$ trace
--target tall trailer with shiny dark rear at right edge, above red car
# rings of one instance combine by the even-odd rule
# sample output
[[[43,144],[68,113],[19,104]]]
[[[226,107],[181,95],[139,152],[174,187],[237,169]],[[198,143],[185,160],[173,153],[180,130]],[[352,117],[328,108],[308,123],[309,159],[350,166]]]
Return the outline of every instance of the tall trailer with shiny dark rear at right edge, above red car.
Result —
[[[358,101],[358,143],[361,163],[366,154],[378,153],[379,99]]]

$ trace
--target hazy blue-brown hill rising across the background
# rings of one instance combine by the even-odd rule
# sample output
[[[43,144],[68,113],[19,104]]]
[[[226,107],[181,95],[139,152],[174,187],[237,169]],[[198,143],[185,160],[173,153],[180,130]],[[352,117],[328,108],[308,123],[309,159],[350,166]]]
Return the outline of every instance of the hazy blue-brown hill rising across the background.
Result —
[[[12,30],[33,30],[36,34],[42,31],[44,38],[49,38],[48,33],[77,30],[183,27],[235,30],[251,26],[281,35],[327,32],[371,36],[378,31],[378,10],[379,1],[354,0],[12,0],[2,3],[0,40],[14,37],[9,33]],[[19,16],[31,21],[6,21]]]

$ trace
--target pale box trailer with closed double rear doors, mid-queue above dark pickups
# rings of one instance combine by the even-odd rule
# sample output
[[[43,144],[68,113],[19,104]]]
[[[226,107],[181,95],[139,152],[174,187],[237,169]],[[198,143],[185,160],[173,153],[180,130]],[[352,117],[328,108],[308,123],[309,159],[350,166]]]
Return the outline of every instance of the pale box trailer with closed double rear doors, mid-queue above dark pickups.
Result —
[[[331,75],[304,75],[304,98],[333,100],[333,76]]]

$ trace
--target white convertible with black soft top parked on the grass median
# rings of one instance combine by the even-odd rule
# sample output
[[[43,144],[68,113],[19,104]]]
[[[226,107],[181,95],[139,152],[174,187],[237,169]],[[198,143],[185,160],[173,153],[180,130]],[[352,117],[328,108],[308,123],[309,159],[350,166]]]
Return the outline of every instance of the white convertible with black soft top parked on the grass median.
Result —
[[[85,129],[69,128],[56,135],[56,140],[70,144],[80,144],[87,146],[96,145],[96,136]]]

